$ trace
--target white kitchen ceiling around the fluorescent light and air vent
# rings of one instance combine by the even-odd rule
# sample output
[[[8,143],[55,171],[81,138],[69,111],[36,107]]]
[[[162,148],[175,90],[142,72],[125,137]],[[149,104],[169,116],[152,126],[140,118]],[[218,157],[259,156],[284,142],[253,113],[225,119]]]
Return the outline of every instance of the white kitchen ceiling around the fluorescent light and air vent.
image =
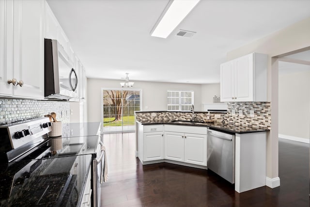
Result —
[[[310,17],[310,0],[201,0],[163,39],[150,31],[169,0],[47,2],[86,76],[116,80],[216,83],[228,51]]]

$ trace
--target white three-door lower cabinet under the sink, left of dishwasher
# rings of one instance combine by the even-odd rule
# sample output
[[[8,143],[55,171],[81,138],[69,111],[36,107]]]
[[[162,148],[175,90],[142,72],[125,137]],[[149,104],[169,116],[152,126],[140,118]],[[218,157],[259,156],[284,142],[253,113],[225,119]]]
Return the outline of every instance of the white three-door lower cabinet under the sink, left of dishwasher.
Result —
[[[172,160],[207,166],[207,127],[139,123],[137,132],[138,157],[143,164]]]

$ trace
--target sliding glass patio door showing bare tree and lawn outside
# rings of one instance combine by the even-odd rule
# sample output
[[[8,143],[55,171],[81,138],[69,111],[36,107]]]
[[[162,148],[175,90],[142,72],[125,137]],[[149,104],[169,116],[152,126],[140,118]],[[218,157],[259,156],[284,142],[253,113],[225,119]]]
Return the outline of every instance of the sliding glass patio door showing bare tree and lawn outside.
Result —
[[[135,111],[141,109],[142,90],[102,88],[101,96],[103,133],[135,131]]]

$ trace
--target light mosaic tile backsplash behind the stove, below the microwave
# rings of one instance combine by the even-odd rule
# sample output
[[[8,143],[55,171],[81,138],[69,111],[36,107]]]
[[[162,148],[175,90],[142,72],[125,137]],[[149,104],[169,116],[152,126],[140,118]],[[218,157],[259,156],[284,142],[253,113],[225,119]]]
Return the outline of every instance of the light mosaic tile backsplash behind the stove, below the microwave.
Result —
[[[57,121],[70,122],[69,102],[0,98],[0,125],[44,117],[50,112],[57,114]]]

